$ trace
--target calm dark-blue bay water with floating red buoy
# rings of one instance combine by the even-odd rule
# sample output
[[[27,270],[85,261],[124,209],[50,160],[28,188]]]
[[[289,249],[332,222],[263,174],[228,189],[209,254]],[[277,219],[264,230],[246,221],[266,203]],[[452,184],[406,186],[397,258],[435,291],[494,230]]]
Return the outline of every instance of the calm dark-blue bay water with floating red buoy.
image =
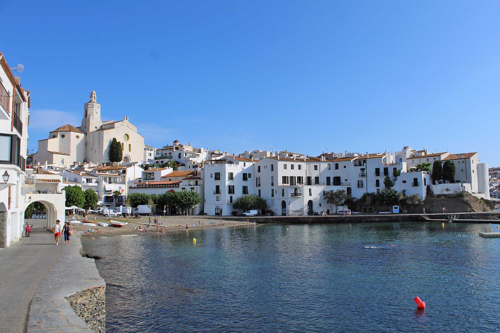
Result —
[[[103,256],[107,333],[499,332],[500,239],[485,226],[207,228],[83,248]]]

